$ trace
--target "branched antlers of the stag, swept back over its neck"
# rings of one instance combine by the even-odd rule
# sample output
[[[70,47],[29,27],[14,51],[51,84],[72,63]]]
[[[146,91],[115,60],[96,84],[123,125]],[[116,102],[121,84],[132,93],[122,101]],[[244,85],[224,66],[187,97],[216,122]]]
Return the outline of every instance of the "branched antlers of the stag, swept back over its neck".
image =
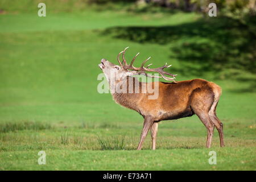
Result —
[[[152,64],[147,65],[147,67],[145,68],[145,67],[144,67],[144,64],[146,64],[146,62],[151,58],[151,57],[148,57],[148,59],[146,59],[146,60],[143,61],[141,67],[136,68],[136,67],[133,66],[133,63],[134,63],[134,60],[136,59],[136,57],[139,55],[139,53],[137,53],[137,55],[133,57],[133,60],[131,61],[130,65],[128,65],[127,62],[126,62],[126,60],[125,60],[125,51],[126,51],[127,48],[129,48],[129,47],[126,47],[126,48],[125,48],[122,52],[120,52],[120,53],[118,54],[118,56],[117,56],[117,57],[118,57],[117,60],[118,60],[119,64],[121,65],[121,67],[123,67],[124,69],[133,69],[134,71],[138,71],[138,75],[145,75],[145,76],[147,76],[147,77],[152,77],[152,78],[164,78],[165,80],[173,81],[173,82],[176,83],[176,81],[175,81],[174,79],[175,79],[175,76],[177,76],[177,75],[173,75],[173,74],[168,73],[168,72],[165,72],[165,71],[163,70],[164,68],[169,68],[169,67],[171,67],[171,65],[168,65],[168,66],[167,66],[167,63],[164,64],[163,67],[159,67],[159,68],[148,68],[148,67],[150,67]],[[123,55],[122,55],[122,59],[123,59],[122,63],[121,63],[121,61],[119,60],[119,56],[121,55],[121,53],[123,53]],[[124,65],[123,65],[123,63],[124,63]],[[161,76],[151,76],[151,75],[147,75],[146,72],[158,72]],[[172,76],[172,77],[167,77],[167,76],[165,76],[165,75],[169,75],[169,76]]]

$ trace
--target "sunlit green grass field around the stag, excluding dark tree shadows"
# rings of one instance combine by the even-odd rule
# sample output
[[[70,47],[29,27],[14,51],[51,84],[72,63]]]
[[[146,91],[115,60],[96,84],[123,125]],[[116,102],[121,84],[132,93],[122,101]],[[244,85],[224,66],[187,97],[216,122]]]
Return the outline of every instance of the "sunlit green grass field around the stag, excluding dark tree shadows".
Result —
[[[255,75],[246,73],[243,80],[217,79],[214,72],[201,76],[222,87],[217,114],[224,124],[225,148],[219,147],[217,131],[212,148],[205,148],[207,130],[193,116],[161,122],[156,150],[150,150],[148,135],[143,150],[135,151],[143,118],[115,104],[110,94],[97,92],[100,60],[115,62],[127,46],[128,60],[141,52],[138,60],[152,56],[155,67],[172,64],[177,81],[197,78],[181,73],[183,64],[170,48],[208,41],[200,32],[162,44],[106,31],[119,26],[181,27],[199,19],[192,13],[89,10],[44,18],[33,12],[0,14],[0,169],[255,170]],[[42,150],[46,165],[38,164]],[[208,163],[211,150],[217,152],[217,165]]]

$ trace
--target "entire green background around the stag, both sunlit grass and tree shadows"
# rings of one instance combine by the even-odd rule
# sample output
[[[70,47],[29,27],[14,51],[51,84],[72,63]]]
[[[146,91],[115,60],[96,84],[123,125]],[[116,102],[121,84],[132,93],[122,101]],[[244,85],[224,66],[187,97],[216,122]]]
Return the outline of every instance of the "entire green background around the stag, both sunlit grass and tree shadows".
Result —
[[[0,169],[255,170],[255,24],[249,0],[0,0]],[[177,81],[222,87],[227,147],[216,131],[204,148],[206,129],[193,116],[161,122],[156,151],[150,136],[134,151],[143,118],[97,92],[100,60],[117,63],[127,46],[127,60],[141,52],[135,65],[151,56],[154,67],[172,64]],[[37,163],[40,150],[47,165]]]

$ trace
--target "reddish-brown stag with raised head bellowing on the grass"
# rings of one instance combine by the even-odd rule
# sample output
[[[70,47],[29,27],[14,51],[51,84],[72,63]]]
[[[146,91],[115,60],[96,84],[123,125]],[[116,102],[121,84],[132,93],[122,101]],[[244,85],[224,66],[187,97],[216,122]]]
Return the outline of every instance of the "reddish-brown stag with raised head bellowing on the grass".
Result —
[[[144,67],[144,64],[150,59],[144,60],[141,67],[134,67],[133,63],[136,57],[134,56],[130,64],[127,64],[125,59],[126,47],[118,53],[117,61],[119,65],[113,64],[106,59],[101,59],[98,64],[106,79],[108,80],[109,88],[113,89],[117,84],[120,84],[127,90],[129,86],[139,85],[141,91],[143,86],[158,86],[158,97],[149,99],[152,95],[150,92],[112,92],[113,100],[129,109],[137,111],[144,118],[141,139],[137,150],[142,149],[142,144],[146,138],[148,131],[151,130],[152,150],[156,148],[156,134],[158,133],[158,123],[160,121],[191,117],[196,114],[207,129],[206,147],[210,148],[212,143],[214,127],[217,128],[220,137],[220,146],[224,147],[223,125],[216,115],[216,107],[221,96],[221,87],[207,80],[196,78],[193,80],[176,81],[176,76],[165,72],[164,69],[171,65],[165,64],[159,68],[149,68],[152,64]],[[120,55],[122,54],[122,62]],[[148,72],[159,73],[160,76],[152,76]],[[111,74],[114,73],[114,80]],[[164,78],[164,80],[172,82],[152,81],[141,82],[135,75],[143,75],[151,78]],[[129,79],[129,81],[127,81]],[[121,86],[121,87],[122,87]],[[134,90],[134,88],[133,88]]]

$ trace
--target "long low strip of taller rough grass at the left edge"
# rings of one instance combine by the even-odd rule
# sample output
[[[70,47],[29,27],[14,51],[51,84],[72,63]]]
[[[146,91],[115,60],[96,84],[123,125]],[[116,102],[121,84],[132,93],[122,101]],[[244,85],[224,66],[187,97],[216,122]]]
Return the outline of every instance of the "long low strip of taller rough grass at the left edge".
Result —
[[[52,126],[49,123],[42,122],[8,122],[0,123],[0,133],[7,133],[10,131],[19,131],[19,130],[47,130],[52,129]]]

